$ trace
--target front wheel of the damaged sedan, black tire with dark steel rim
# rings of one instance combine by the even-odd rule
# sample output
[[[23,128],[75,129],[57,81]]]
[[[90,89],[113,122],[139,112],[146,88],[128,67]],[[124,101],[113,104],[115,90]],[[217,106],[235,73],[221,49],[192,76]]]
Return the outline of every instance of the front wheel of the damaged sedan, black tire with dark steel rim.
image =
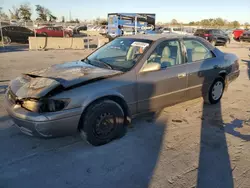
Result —
[[[82,115],[80,134],[94,146],[104,145],[125,135],[124,120],[124,112],[119,104],[112,100],[99,101]]]

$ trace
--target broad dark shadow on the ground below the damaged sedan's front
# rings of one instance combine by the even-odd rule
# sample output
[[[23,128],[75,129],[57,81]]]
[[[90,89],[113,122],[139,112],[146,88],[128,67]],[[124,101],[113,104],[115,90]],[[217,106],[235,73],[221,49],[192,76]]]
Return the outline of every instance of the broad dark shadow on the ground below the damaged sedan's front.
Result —
[[[136,89],[134,82],[122,84]],[[142,84],[148,84],[147,92],[154,94],[153,84]],[[150,108],[151,104],[144,105]],[[21,183],[26,188],[149,187],[167,125],[155,112],[135,118],[131,125],[126,136],[100,147],[87,144],[78,134],[40,139],[26,136],[14,126],[0,129],[0,142],[8,143],[0,145],[4,151],[0,187]]]

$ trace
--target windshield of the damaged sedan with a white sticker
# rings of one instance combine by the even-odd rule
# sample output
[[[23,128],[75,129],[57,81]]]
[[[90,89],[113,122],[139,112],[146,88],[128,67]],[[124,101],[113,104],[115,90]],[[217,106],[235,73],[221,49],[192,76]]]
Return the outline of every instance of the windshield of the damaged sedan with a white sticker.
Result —
[[[151,43],[151,40],[117,38],[83,61],[102,68],[128,71],[137,63]]]

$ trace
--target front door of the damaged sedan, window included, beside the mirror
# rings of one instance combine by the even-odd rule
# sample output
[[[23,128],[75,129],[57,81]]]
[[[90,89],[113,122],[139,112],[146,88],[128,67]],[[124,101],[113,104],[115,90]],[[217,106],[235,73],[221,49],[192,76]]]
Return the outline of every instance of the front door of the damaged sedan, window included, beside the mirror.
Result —
[[[178,40],[161,42],[149,55],[147,64],[160,65],[160,70],[137,75],[138,112],[155,111],[184,101],[187,88],[187,67]]]

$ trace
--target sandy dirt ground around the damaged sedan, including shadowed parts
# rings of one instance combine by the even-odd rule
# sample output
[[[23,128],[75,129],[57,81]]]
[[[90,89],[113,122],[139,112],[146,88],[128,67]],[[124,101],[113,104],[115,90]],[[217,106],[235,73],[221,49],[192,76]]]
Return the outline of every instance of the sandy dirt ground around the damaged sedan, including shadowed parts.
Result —
[[[250,59],[245,44],[221,49],[242,59],[221,104],[196,99],[165,108],[157,120],[136,119],[124,138],[101,147],[78,135],[23,135],[2,107],[6,80],[89,52],[0,53],[0,188],[248,188]]]

